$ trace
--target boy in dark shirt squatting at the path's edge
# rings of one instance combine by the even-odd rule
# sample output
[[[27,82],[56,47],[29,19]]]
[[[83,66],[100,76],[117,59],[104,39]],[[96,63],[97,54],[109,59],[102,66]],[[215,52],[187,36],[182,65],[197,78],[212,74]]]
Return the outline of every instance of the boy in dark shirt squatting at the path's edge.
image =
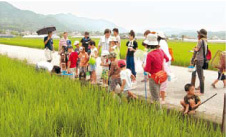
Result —
[[[184,100],[180,104],[184,107],[184,114],[194,114],[195,109],[201,104],[200,98],[195,95],[195,87],[192,84],[186,84],[184,87],[187,95],[184,97]]]

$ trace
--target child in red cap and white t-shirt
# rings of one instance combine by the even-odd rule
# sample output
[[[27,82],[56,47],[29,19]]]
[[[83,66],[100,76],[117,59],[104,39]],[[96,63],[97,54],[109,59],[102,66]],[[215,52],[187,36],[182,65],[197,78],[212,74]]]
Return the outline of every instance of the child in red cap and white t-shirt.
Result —
[[[126,63],[124,60],[118,61],[118,66],[121,70],[121,93],[126,94],[128,98],[137,99],[137,96],[130,91],[132,89],[132,80],[134,81],[136,77],[131,73],[131,70],[126,68]]]

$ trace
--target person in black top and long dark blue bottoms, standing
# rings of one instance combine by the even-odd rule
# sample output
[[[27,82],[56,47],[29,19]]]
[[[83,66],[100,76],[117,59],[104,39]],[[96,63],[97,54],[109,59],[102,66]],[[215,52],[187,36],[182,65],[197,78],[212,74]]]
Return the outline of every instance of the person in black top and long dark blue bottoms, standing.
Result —
[[[128,47],[127,54],[126,54],[127,68],[130,69],[133,75],[136,77],[134,53],[138,48],[138,44],[135,40],[135,32],[133,30],[131,30],[129,33],[129,41],[126,43],[126,46]]]

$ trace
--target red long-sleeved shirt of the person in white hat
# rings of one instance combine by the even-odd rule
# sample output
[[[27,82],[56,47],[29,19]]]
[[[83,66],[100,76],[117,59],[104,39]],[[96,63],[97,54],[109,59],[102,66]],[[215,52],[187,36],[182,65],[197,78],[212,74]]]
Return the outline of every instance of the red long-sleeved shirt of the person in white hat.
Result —
[[[146,66],[144,68],[144,71],[150,74],[154,74],[161,71],[164,59],[166,60],[166,62],[169,61],[169,58],[166,56],[163,50],[156,49],[151,51],[147,55]]]

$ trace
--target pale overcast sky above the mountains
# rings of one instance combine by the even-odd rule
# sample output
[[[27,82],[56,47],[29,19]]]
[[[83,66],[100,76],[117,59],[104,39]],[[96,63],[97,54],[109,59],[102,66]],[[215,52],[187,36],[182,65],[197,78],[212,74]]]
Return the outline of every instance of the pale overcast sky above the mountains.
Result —
[[[40,14],[71,13],[105,19],[118,26],[146,29],[226,30],[225,1],[8,1],[15,7]]]

